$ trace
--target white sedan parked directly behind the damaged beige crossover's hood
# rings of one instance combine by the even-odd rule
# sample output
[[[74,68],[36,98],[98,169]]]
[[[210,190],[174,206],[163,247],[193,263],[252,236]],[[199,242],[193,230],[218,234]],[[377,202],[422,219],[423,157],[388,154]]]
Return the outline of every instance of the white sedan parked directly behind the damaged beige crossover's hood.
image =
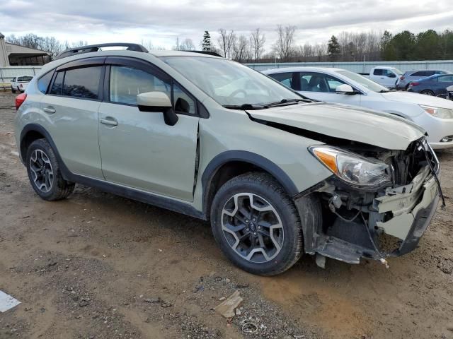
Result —
[[[389,90],[345,69],[293,67],[263,73],[310,99],[367,107],[409,119],[428,132],[432,148],[453,147],[453,102]]]

